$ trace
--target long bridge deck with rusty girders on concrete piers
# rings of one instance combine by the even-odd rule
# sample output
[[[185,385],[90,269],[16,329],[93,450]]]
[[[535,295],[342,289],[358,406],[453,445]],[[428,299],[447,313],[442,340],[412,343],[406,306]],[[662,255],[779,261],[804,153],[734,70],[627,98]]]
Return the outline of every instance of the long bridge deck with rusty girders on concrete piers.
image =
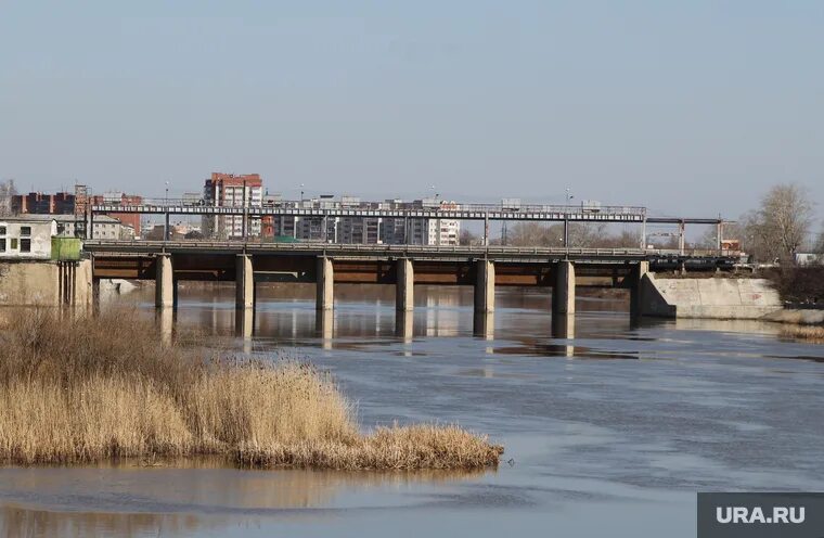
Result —
[[[159,310],[177,307],[177,283],[234,281],[240,331],[252,330],[256,282],[312,282],[319,323],[334,308],[335,284],[396,286],[399,331],[411,323],[415,284],[466,285],[475,291],[476,331],[492,320],[495,286],[552,290],[556,331],[574,326],[576,287],[630,291],[631,311],[643,315],[640,282],[647,271],[731,269],[733,253],[644,248],[545,248],[507,246],[345,245],[213,241],[100,241],[83,248],[92,279],[155,280]],[[564,322],[564,324],[561,323]],[[566,329],[564,329],[566,326]]]

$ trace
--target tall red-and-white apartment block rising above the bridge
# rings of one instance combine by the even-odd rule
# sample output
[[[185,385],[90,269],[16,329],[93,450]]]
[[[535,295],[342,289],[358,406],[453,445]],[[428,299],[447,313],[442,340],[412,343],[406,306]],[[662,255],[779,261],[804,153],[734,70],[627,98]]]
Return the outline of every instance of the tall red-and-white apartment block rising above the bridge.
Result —
[[[205,205],[218,207],[260,207],[263,181],[259,174],[233,175],[213,172],[203,188]],[[203,233],[207,238],[240,239],[260,235],[260,217],[248,217],[243,229],[242,215],[204,215]]]

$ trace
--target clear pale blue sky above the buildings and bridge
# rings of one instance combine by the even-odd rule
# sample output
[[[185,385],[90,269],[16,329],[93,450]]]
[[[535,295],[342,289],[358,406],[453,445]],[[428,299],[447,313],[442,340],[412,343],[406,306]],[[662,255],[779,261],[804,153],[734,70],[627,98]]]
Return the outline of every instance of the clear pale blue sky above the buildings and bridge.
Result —
[[[0,51],[21,190],[824,202],[821,1],[0,0]]]

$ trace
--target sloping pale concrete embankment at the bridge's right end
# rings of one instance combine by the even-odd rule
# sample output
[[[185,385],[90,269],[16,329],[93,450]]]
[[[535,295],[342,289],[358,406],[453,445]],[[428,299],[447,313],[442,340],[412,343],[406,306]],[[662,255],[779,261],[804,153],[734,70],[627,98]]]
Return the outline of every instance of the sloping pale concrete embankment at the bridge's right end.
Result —
[[[641,281],[644,316],[701,319],[764,319],[782,310],[765,279],[665,279],[651,273]]]

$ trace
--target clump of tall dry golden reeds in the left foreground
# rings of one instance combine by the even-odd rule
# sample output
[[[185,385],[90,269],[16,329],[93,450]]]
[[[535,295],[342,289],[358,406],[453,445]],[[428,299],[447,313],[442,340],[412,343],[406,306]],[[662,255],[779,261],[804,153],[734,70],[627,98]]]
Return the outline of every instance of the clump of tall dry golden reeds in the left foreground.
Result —
[[[137,312],[31,310],[0,336],[0,461],[219,454],[243,466],[476,469],[502,449],[458,426],[360,433],[314,368],[164,347]]]

